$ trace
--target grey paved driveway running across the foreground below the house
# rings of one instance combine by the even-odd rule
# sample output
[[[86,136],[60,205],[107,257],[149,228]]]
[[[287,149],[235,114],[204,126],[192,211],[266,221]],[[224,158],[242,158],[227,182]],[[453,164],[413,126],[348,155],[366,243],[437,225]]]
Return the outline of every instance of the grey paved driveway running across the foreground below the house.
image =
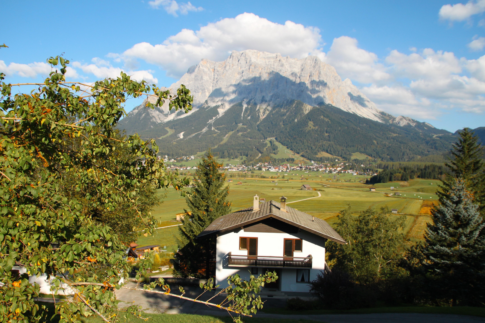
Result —
[[[135,283],[128,283],[129,287],[135,287]],[[175,287],[175,286],[172,286]],[[141,286],[139,288],[142,288]],[[187,297],[197,297],[200,289],[184,287]],[[207,300],[212,294],[199,298]],[[120,307],[126,307],[133,303],[139,304],[147,313],[167,314],[199,314],[212,316],[227,316],[225,310],[209,307],[204,304],[179,299],[173,296],[156,294],[142,291],[120,289],[116,291],[116,297],[121,302]],[[257,317],[280,318],[280,319],[306,319],[326,323],[478,323],[484,322],[485,318],[468,315],[451,314],[418,314],[418,313],[376,313],[376,314],[319,314],[319,315],[282,315],[266,314],[259,312]]]

